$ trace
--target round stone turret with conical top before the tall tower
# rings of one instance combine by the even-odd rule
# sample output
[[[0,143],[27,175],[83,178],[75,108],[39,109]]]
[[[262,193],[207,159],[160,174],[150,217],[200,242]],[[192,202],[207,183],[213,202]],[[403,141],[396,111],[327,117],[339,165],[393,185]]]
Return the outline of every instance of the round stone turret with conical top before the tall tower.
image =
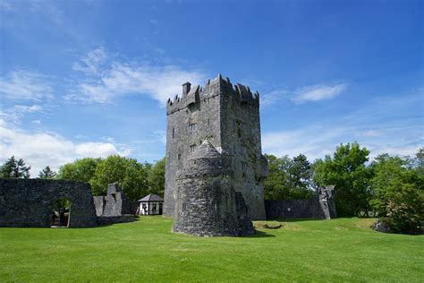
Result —
[[[233,189],[233,170],[225,154],[202,142],[178,173],[173,231],[195,236],[255,233],[242,193]]]

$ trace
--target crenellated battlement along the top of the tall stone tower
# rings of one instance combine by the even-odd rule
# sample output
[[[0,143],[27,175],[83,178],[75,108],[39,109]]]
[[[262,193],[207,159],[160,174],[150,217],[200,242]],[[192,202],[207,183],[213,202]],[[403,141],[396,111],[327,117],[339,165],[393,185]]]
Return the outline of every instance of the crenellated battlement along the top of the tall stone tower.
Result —
[[[203,87],[199,85],[191,87],[189,81],[184,82],[182,84],[182,96],[180,97],[176,94],[174,99],[166,101],[166,115],[218,95],[231,97],[241,104],[244,103],[251,107],[259,107],[258,90],[252,93],[248,86],[244,86],[239,82],[233,85],[228,77],[224,79],[221,74],[218,74],[215,79],[209,79]]]

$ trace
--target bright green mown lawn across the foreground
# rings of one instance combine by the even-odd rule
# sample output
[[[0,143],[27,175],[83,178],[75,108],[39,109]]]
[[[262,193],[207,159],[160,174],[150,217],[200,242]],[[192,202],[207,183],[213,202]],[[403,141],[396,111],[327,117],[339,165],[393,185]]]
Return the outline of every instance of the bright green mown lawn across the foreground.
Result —
[[[424,237],[374,232],[372,221],[291,221],[238,238],[175,235],[172,220],[161,217],[94,228],[0,228],[0,282],[422,282]]]

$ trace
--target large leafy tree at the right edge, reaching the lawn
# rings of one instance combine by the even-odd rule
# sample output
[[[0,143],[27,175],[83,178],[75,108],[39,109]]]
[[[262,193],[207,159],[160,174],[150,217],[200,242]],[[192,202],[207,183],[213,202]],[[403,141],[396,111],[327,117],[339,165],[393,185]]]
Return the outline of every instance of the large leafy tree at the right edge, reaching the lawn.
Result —
[[[420,176],[410,159],[382,154],[371,164],[375,196],[371,204],[395,232],[413,233],[424,219],[424,194]]]

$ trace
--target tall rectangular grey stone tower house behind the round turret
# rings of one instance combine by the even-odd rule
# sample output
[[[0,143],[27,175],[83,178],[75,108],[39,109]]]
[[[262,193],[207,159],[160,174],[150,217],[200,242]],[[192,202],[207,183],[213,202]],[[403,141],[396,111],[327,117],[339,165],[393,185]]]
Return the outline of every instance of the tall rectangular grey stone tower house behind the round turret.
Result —
[[[267,160],[261,152],[259,93],[221,75],[203,88],[186,82],[181,98],[168,99],[166,116],[164,214],[174,216],[177,177],[207,140],[222,155],[223,170],[233,172],[228,182],[242,196],[248,217],[265,219]]]

